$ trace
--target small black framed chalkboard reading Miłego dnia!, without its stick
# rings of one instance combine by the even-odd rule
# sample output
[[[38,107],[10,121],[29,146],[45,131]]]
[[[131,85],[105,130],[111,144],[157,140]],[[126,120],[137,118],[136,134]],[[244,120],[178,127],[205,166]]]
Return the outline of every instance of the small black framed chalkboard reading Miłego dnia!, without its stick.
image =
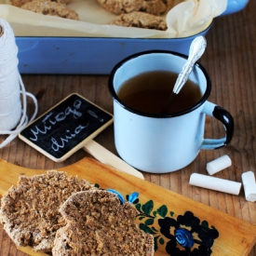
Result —
[[[112,123],[113,115],[74,93],[24,128],[19,137],[61,162]]]

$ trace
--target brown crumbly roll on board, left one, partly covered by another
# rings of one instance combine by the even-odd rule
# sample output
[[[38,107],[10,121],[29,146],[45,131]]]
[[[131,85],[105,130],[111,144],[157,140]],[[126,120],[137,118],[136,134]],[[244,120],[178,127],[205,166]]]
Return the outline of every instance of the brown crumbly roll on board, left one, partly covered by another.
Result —
[[[17,187],[12,186],[2,197],[0,221],[17,246],[50,252],[56,231],[66,223],[61,205],[73,193],[89,189],[96,188],[57,170],[20,176]]]

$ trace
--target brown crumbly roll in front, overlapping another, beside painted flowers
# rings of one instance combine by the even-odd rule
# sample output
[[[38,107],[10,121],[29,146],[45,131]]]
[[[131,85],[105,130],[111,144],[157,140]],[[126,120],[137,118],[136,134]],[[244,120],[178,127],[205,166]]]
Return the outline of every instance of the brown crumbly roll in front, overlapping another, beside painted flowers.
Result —
[[[138,214],[117,195],[85,191],[71,195],[61,206],[67,222],[58,230],[53,256],[153,256],[154,237],[134,223]]]

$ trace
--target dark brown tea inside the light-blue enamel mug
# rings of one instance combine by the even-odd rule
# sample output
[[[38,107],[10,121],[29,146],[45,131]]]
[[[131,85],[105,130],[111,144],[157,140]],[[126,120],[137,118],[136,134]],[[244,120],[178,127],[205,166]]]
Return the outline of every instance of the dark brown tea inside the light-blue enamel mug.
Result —
[[[138,74],[129,78],[120,87],[117,95],[126,105],[143,113],[152,115],[174,114],[189,109],[202,98],[200,88],[188,80],[166,107],[177,77],[178,74],[168,71],[151,71]]]

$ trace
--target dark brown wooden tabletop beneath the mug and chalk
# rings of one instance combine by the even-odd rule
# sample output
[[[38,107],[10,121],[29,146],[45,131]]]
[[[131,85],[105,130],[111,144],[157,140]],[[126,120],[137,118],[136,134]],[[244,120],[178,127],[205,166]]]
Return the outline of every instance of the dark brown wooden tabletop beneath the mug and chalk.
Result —
[[[231,143],[214,151],[201,151],[195,161],[182,170],[168,174],[143,173],[148,182],[155,183],[175,193],[219,209],[236,218],[256,225],[256,203],[246,201],[243,190],[239,195],[227,195],[189,185],[194,172],[207,174],[206,164],[221,156],[229,155],[232,166],[215,176],[241,182],[245,171],[256,171],[256,1],[236,14],[218,18],[207,34],[208,47],[200,60],[209,72],[212,90],[209,101],[229,110],[235,119],[235,134]],[[93,101],[113,113],[113,102],[107,88],[107,75],[22,75],[26,89],[36,96],[39,113],[73,92]],[[30,113],[33,104],[29,101]],[[222,126],[207,119],[208,138],[222,137]],[[2,138],[0,137],[0,140]],[[3,138],[4,139],[4,138]],[[106,128],[95,138],[102,146],[116,155],[113,126]],[[88,154],[80,150],[66,161],[55,163],[36,152],[25,142],[16,139],[0,150],[0,158],[20,167],[50,169],[62,168],[77,162]],[[6,173],[5,175],[8,175]],[[233,236],[230,231],[230,236]],[[233,244],[236,247],[236,244]],[[25,256],[3,231],[0,225],[0,255]],[[236,256],[236,255],[235,255]],[[254,246],[249,256],[256,256]]]

